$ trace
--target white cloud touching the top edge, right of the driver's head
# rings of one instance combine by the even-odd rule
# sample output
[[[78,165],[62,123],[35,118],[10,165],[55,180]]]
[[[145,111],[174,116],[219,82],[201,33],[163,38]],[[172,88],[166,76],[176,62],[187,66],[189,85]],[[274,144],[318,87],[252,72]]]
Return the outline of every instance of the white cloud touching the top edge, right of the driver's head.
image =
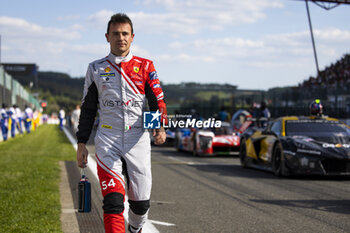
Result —
[[[176,30],[177,33],[196,33],[206,29],[221,30],[227,25],[253,23],[266,17],[264,13],[266,9],[283,7],[282,2],[278,0],[148,0],[145,4],[163,6],[167,13],[156,15],[154,21],[162,20],[160,21],[162,29],[169,26],[173,29],[172,25],[184,27],[183,32]],[[150,17],[145,14],[136,16]],[[187,28],[192,28],[194,31]]]

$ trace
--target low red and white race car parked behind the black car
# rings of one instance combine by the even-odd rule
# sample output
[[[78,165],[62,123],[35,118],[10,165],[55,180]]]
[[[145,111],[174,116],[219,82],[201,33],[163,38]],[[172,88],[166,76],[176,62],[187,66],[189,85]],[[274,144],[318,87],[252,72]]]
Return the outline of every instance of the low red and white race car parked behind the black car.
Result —
[[[193,155],[238,155],[239,142],[228,122],[222,122],[221,128],[178,129],[175,136],[175,148]]]

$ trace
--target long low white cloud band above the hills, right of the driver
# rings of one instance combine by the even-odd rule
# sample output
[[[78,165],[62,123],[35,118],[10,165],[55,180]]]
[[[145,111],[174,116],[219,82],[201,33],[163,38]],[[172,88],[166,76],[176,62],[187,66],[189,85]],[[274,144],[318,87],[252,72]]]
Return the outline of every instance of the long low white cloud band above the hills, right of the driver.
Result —
[[[344,48],[350,48],[348,30],[316,29],[314,34],[319,60],[323,61],[323,66],[332,60],[339,59],[344,54]],[[177,55],[162,54],[158,56],[162,61],[213,62],[215,60],[249,67],[288,69],[313,63],[309,31],[262,35],[257,39],[224,37],[198,39],[193,42],[174,41],[169,43],[168,47],[169,54]],[[186,56],[179,54],[179,51],[186,51]],[[320,66],[322,68],[321,64]]]

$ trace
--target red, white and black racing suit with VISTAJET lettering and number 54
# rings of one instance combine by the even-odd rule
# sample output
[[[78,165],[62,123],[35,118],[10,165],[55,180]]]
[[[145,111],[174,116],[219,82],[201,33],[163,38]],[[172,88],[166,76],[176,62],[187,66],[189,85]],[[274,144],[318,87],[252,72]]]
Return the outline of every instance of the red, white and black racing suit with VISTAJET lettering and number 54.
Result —
[[[125,232],[124,196],[130,204],[129,223],[142,228],[151,195],[150,135],[143,129],[146,99],[151,111],[166,121],[164,93],[152,61],[133,56],[106,58],[89,64],[78,143],[86,143],[96,112],[99,124],[95,137],[97,170],[102,190],[106,232]]]

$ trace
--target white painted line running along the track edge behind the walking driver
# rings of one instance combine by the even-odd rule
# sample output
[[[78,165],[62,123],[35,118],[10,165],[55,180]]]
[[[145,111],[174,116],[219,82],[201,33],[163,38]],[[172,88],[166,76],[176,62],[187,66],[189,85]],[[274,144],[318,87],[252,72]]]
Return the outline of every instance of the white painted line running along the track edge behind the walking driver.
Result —
[[[63,127],[63,131],[66,134],[68,140],[72,143],[73,147],[75,150],[77,150],[77,141],[76,139],[72,136],[72,134],[65,128]],[[94,156],[90,156],[89,162],[87,164],[87,167],[90,169],[90,171],[94,174],[95,178],[98,180],[98,175],[97,175],[97,164]],[[129,212],[129,202],[127,201],[128,196],[125,195],[125,210],[124,210],[124,218],[125,220],[128,219],[128,212]],[[157,228],[152,224],[158,224],[158,225],[163,225],[163,226],[175,226],[175,224],[172,223],[167,223],[167,222],[160,222],[156,220],[150,220],[147,219],[145,225],[142,228],[143,233],[159,233]]]

